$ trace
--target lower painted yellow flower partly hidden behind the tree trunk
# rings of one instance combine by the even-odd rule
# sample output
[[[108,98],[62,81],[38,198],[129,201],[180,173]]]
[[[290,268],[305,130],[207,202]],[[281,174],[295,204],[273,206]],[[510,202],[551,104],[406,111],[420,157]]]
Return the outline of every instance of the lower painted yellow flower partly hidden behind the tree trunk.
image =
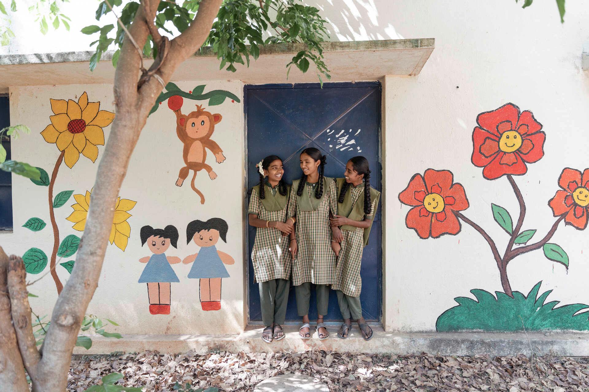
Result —
[[[78,232],[83,232],[86,226],[86,217],[88,216],[88,208],[90,207],[90,195],[91,192],[88,190],[85,196],[74,195],[74,199],[77,202],[72,205],[74,212],[66,218],[70,222],[75,223],[72,229],[78,230]],[[112,219],[111,234],[108,240],[111,244],[114,243],[123,251],[127,247],[127,242],[131,235],[131,226],[127,222],[131,214],[128,211],[133,209],[135,204],[137,202],[133,200],[121,199],[119,197],[117,199],[117,205],[114,207],[114,218]]]

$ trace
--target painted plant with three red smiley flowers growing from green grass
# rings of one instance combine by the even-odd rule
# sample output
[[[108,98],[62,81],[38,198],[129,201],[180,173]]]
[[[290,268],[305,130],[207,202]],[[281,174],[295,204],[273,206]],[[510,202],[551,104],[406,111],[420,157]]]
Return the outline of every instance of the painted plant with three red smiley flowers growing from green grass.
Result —
[[[568,271],[569,257],[558,244],[550,243],[558,226],[565,224],[575,229],[587,227],[589,213],[589,169],[565,168],[558,185],[561,187],[548,202],[557,219],[537,242],[532,242],[537,230],[523,230],[526,213],[525,200],[513,176],[527,174],[529,163],[538,162],[544,156],[546,135],[542,125],[530,110],[521,112],[518,106],[507,103],[498,109],[480,113],[472,133],[471,162],[483,167],[487,180],[506,177],[519,203],[517,221],[504,207],[491,204],[495,222],[508,235],[507,247],[499,252],[495,240],[462,211],[468,208],[464,188],[454,183],[449,170],[428,169],[416,173],[407,187],[399,193],[399,201],[411,206],[405,224],[415,230],[422,239],[438,238],[442,234],[456,235],[461,231],[460,221],[471,226],[488,243],[497,264],[502,292],[495,295],[473,289],[471,297],[456,297],[458,306],[442,313],[436,320],[438,331],[458,330],[589,330],[589,305],[568,304],[556,307],[558,301],[545,302],[552,290],[538,296],[542,282],[538,282],[527,295],[512,290],[507,273],[508,264],[521,254],[542,249],[551,262],[559,263]]]

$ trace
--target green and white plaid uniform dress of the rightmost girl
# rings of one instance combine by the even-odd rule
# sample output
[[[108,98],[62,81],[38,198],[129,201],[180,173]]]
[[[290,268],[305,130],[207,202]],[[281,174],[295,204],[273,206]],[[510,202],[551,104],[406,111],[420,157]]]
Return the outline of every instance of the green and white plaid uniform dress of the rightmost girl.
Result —
[[[358,186],[351,185],[348,192],[352,196],[352,206],[355,206],[358,197],[364,193],[364,183]],[[377,200],[372,200],[371,214],[366,216],[368,219],[372,219],[375,213],[376,202]],[[350,297],[359,297],[362,290],[360,265],[362,264],[362,252],[364,251],[364,229],[356,227],[353,232],[342,230],[342,235],[343,241],[340,243],[342,250],[339,251],[339,257],[337,257],[332,289],[341,290]]]

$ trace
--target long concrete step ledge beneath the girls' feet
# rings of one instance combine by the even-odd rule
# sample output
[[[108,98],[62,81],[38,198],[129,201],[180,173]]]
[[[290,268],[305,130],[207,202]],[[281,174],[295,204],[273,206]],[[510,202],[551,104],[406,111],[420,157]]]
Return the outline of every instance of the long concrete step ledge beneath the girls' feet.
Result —
[[[160,353],[197,353],[230,351],[237,353],[269,351],[348,351],[351,353],[379,354],[441,354],[446,356],[508,356],[532,351],[538,356],[589,356],[588,333],[392,333],[382,327],[372,327],[374,336],[369,341],[362,339],[358,326],[353,326],[348,339],[336,336],[337,327],[328,327],[330,337],[317,339],[315,326],[309,340],[299,338],[297,327],[286,326],[286,337],[265,343],[260,337],[262,328],[248,327],[235,335],[124,335],[123,339],[92,337],[92,347],[85,350],[75,347],[74,354],[134,353],[145,350]],[[529,340],[528,340],[529,339]]]

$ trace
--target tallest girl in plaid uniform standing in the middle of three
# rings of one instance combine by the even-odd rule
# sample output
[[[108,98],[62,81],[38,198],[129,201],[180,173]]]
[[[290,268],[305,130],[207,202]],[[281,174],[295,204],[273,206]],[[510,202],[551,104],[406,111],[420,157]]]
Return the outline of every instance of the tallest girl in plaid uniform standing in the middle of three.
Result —
[[[317,296],[317,335],[327,339],[323,324],[329,303],[329,285],[335,277],[336,254],[333,250],[329,214],[336,210],[337,191],[332,178],[325,177],[326,157],[316,148],[300,153],[303,175],[293,181],[289,200],[289,216],[296,216],[296,228],[290,233],[293,254],[293,286],[297,312],[303,317],[299,329],[301,339],[310,339],[309,300],[311,283]]]

